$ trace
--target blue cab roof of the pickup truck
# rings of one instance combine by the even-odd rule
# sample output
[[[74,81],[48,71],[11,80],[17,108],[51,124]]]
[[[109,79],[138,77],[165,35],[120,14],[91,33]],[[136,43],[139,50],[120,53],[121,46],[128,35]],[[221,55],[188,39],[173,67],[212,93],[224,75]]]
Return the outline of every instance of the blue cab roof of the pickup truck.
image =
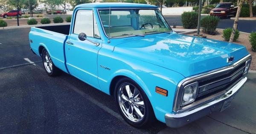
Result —
[[[93,8],[157,8],[157,6],[148,4],[137,4],[137,3],[86,3],[76,6],[78,7],[93,7]]]

